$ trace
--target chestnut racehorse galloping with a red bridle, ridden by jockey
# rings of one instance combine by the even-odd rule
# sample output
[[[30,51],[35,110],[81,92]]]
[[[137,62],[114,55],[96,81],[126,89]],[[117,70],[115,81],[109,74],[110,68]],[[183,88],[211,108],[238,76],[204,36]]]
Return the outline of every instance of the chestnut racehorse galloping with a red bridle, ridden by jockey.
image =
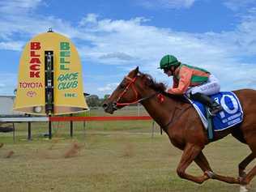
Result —
[[[214,140],[222,139],[228,134],[250,147],[251,153],[238,165],[239,177],[226,177],[214,173],[203,155],[203,148],[209,143],[203,123],[194,107],[182,96],[173,96],[165,92],[163,83],[156,83],[150,75],[139,72],[139,67],[131,70],[122,80],[116,90],[103,104],[106,113],[130,104],[141,103],[147,113],[168,134],[173,145],[183,154],[177,166],[179,177],[199,184],[212,178],[231,184],[241,184],[241,191],[247,191],[245,186],[256,174],[256,165],[249,173],[245,168],[256,156],[256,91],[243,89],[234,91],[244,111],[244,121],[236,127],[214,133]],[[203,170],[203,176],[195,177],[186,173],[188,166],[195,162]]]

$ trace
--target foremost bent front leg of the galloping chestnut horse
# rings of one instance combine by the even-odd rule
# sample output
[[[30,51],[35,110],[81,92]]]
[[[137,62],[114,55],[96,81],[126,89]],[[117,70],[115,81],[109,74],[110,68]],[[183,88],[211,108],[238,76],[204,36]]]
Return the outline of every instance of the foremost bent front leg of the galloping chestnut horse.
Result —
[[[206,174],[204,174],[201,177],[195,177],[186,173],[186,169],[197,158],[201,151],[202,148],[198,147],[197,145],[194,145],[192,143],[188,143],[186,145],[181,156],[181,161],[177,166],[177,174],[179,177],[190,181],[194,181],[199,184],[203,183],[203,181],[206,181],[209,178]]]

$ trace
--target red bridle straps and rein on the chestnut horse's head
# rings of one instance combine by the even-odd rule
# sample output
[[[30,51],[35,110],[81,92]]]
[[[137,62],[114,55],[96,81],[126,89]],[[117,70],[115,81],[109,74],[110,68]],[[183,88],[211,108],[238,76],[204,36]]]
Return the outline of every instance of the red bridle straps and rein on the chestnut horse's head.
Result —
[[[146,96],[146,97],[143,97],[141,99],[138,98],[138,92],[134,86],[134,83],[136,81],[136,79],[138,78],[138,75],[136,75],[133,79],[131,79],[129,76],[125,76],[125,79],[130,81],[127,85],[126,85],[126,88],[124,89],[123,92],[120,93],[120,95],[117,97],[117,100],[116,102],[114,102],[114,106],[113,108],[117,109],[117,106],[126,106],[126,105],[133,105],[133,104],[138,104],[140,102],[142,102],[143,100],[147,100],[147,99],[150,99],[151,97],[153,96],[156,96],[157,94],[159,94],[159,92],[156,92],[154,94],[152,94],[151,96]],[[122,96],[124,96],[126,94],[126,92],[129,90],[129,88],[132,88],[133,92],[134,92],[134,101],[131,101],[131,102],[127,102],[127,103],[120,103],[119,101],[122,99]]]

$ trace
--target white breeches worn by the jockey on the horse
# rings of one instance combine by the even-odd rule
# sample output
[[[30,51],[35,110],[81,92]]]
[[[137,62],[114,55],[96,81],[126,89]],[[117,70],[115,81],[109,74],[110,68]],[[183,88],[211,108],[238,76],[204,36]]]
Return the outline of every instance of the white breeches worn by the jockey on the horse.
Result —
[[[194,94],[196,92],[203,93],[204,95],[207,95],[207,96],[220,92],[219,80],[216,79],[214,75],[210,75],[206,83],[203,83],[195,87],[190,87],[186,91],[186,95],[189,96],[190,93]]]

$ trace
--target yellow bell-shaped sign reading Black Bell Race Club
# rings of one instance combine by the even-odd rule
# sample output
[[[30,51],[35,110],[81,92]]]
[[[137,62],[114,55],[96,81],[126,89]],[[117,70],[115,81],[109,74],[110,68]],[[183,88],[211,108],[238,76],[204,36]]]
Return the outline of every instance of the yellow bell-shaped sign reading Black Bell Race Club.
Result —
[[[53,53],[53,114],[87,110],[83,96],[82,67],[75,45],[66,36],[45,32],[32,38],[23,49],[14,109],[45,115],[48,85],[47,53]],[[48,71],[49,72],[49,71]]]

